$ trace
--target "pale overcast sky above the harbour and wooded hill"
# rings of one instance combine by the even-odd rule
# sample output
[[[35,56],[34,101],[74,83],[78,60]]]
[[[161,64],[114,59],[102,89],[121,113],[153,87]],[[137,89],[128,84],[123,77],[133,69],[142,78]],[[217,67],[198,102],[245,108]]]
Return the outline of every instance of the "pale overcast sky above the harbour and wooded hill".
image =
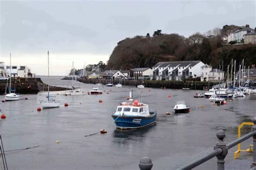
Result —
[[[256,26],[256,1],[2,1],[0,61],[45,75],[106,62],[119,40],[161,29],[188,37],[223,25]]]

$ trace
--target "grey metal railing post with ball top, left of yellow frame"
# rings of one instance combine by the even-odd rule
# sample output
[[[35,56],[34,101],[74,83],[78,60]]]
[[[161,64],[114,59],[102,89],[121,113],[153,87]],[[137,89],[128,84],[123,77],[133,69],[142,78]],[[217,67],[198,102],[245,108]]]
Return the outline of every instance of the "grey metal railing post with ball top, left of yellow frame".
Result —
[[[225,166],[225,157],[227,155],[227,146],[225,144],[225,142],[223,141],[223,139],[225,138],[225,132],[223,130],[218,130],[217,134],[216,134],[217,138],[219,139],[219,141],[217,142],[216,146],[214,146],[214,149],[217,148],[221,148],[222,152],[221,154],[219,154],[217,157],[217,169],[218,170],[224,170]]]

